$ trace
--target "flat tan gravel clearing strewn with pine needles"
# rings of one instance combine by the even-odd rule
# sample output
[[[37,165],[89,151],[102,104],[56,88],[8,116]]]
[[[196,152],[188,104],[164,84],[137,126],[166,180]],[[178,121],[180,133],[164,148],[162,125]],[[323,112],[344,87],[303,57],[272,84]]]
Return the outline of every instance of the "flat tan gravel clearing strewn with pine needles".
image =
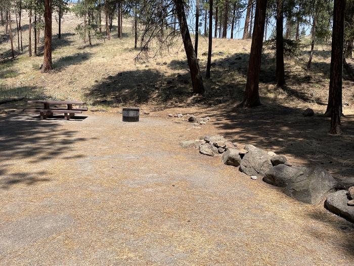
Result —
[[[9,113],[0,128],[0,265],[354,259],[354,227],[323,203],[299,203],[219,158],[179,147],[219,132],[218,123],[194,128],[150,114],[123,123],[118,113],[92,112],[38,121]]]

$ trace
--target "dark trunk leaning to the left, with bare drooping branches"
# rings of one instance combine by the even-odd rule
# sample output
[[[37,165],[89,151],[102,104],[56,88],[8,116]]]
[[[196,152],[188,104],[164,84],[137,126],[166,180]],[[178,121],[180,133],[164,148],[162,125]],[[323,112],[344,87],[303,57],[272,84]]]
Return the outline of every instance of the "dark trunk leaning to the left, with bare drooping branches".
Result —
[[[188,30],[186,14],[183,6],[184,1],[173,0],[173,2],[176,8],[176,13],[181,28],[181,35],[182,35],[183,44],[187,55],[189,69],[191,71],[193,93],[204,93],[203,79],[200,74],[197,56],[194,52],[191,36]]]

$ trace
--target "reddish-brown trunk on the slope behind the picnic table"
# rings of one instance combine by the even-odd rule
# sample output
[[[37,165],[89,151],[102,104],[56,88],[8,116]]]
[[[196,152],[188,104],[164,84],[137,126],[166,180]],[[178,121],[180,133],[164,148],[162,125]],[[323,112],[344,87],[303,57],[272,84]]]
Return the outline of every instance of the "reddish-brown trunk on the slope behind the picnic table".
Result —
[[[49,72],[52,65],[52,0],[45,0],[45,45],[42,72]]]

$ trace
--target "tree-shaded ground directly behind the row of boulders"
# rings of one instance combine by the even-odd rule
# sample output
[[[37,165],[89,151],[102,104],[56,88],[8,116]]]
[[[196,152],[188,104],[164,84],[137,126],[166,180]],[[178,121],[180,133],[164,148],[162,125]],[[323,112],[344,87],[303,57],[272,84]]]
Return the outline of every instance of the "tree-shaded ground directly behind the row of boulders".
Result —
[[[261,100],[265,105],[251,109],[211,108],[215,126],[230,140],[300,159],[295,164],[321,165],[336,178],[354,175],[354,115],[342,119],[345,134],[333,136],[329,118],[303,117],[302,109]]]

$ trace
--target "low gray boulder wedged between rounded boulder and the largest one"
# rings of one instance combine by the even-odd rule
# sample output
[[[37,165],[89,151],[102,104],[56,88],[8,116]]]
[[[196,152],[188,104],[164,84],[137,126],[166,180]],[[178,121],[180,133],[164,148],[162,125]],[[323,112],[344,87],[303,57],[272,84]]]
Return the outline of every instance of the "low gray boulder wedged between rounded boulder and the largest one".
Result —
[[[303,175],[306,167],[289,167],[279,164],[265,172],[263,181],[271,185],[285,187],[293,182],[293,179]]]

